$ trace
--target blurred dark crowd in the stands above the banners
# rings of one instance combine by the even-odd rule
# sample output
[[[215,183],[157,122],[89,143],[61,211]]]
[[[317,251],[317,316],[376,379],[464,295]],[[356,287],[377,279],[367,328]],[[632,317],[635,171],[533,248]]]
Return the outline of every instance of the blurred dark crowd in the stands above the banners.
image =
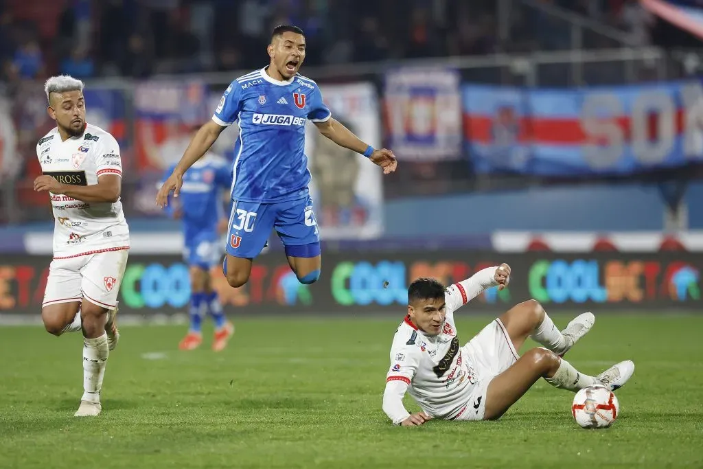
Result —
[[[565,25],[553,27],[553,18],[519,2],[510,2],[508,37],[500,37],[499,3],[413,0],[398,8],[395,0],[0,0],[1,77],[250,69],[260,65],[260,45],[281,23],[305,30],[308,65],[569,46]],[[619,27],[642,45],[656,25],[636,0],[540,3]],[[531,26],[536,23],[545,27]]]

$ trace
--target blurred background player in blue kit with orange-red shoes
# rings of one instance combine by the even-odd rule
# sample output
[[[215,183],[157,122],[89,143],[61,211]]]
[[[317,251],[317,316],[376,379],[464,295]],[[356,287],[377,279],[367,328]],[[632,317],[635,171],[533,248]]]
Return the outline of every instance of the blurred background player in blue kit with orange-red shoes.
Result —
[[[165,180],[174,167],[166,172]],[[182,181],[178,203],[167,207],[169,215],[183,223],[183,261],[188,264],[191,276],[191,326],[179,349],[200,347],[202,316],[207,311],[215,326],[212,349],[219,352],[227,345],[234,326],[224,316],[217,292],[212,289],[209,271],[221,259],[219,238],[227,221],[221,191],[231,187],[231,165],[224,158],[207,153],[183,174]]]

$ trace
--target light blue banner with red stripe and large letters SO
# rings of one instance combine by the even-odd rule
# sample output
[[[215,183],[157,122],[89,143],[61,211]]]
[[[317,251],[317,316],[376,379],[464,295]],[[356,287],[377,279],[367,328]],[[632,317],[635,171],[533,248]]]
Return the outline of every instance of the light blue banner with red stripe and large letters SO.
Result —
[[[591,89],[463,86],[479,173],[632,174],[703,162],[698,81]]]

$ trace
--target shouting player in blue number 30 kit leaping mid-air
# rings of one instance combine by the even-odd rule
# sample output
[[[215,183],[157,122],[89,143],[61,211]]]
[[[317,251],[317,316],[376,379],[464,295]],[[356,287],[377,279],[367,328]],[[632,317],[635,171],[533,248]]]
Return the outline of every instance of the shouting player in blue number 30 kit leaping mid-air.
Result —
[[[223,265],[233,287],[249,280],[252,260],[273,229],[298,281],[313,283],[320,276],[320,236],[304,153],[308,120],[337,145],[368,157],[385,174],[394,172],[398,164],[392,151],[375,150],[333,119],[317,84],[298,74],[305,59],[302,30],[276,27],[267,51],[271,58],[268,66],[228,86],[212,120],[200,127],[156,198],[157,205],[165,207],[171,191],[178,197],[186,170],[205,154],[221,131],[238,123],[233,207]]]

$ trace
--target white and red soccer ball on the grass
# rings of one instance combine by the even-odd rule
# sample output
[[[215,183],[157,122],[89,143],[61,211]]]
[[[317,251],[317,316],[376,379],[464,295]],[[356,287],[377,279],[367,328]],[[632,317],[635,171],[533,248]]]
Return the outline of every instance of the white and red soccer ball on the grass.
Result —
[[[605,386],[584,387],[574,396],[572,415],[583,428],[607,428],[620,413],[617,397]]]

